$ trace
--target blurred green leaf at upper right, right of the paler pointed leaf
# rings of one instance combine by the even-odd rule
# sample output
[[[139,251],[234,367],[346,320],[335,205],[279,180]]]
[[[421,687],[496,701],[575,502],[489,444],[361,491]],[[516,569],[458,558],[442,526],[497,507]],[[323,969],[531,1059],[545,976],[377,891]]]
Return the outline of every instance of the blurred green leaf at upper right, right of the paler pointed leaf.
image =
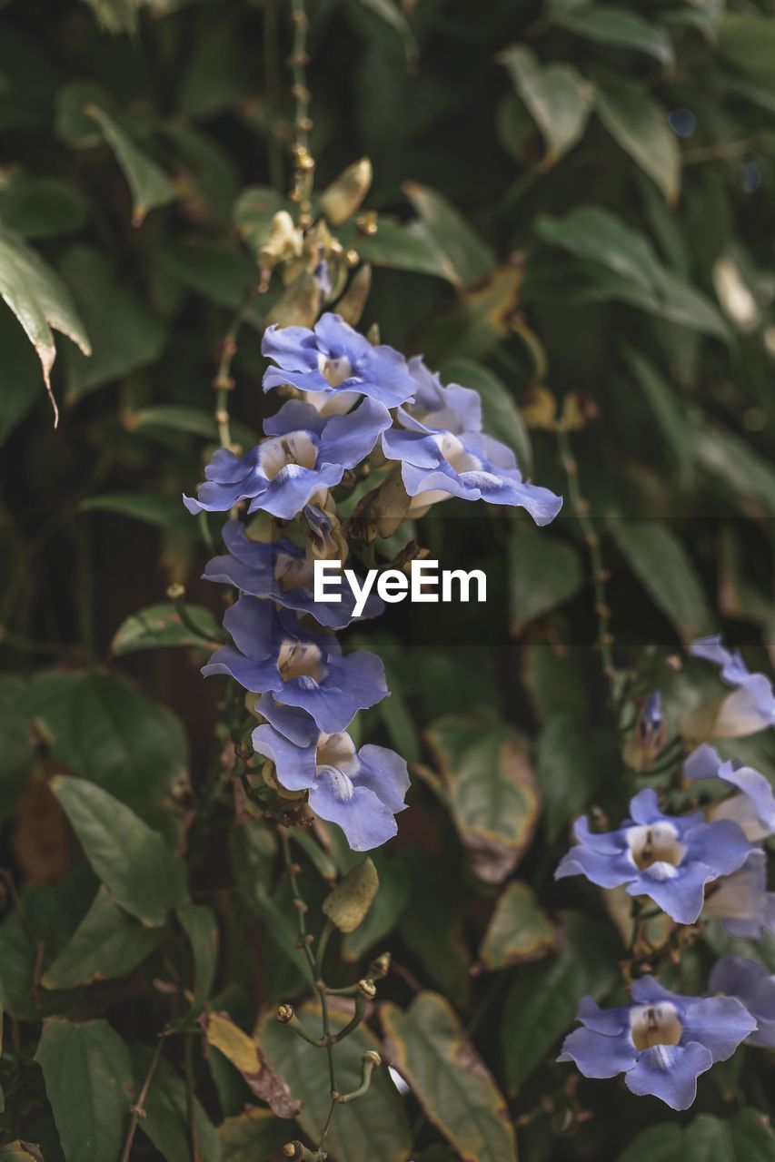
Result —
[[[598,83],[600,121],[621,149],[652,178],[666,201],[678,199],[681,151],[666,110],[635,85],[613,78]]]

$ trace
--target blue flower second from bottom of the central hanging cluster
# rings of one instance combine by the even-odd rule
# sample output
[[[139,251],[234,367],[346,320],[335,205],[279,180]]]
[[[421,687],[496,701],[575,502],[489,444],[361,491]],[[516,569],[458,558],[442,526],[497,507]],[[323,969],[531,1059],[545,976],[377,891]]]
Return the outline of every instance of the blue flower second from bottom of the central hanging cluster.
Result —
[[[356,711],[389,693],[376,654],[356,650],[342,658],[333,633],[305,629],[297,614],[269,601],[241,596],[223,625],[236,648],[218,650],[202,674],[230,674],[254,694],[276,694],[280,703],[312,715],[321,731],[344,730]]]

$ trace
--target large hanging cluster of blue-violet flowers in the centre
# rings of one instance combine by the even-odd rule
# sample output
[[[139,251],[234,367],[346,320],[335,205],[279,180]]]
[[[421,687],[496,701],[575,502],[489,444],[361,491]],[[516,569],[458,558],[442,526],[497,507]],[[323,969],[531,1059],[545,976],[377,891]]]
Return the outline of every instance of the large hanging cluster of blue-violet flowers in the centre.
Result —
[[[266,780],[306,795],[350,847],[368,851],[396,834],[408,775],[393,751],[358,751],[347,733],[357,711],[389,690],[379,658],[343,655],[332,632],[355,619],[353,602],[314,600],[312,561],[348,552],[334,489],[370,460],[392,480],[388,495],[403,494],[401,518],[457,496],[524,508],[542,525],[562,501],[525,481],[514,453],[484,435],[476,392],[442,386],[421,359],[372,346],[339,316],[326,314],[313,329],[270,327],[262,350],[271,360],[264,390],[283,388],[292,399],[247,454],[216,451],[198,496],[184,502],[194,514],[242,507],[289,526],[257,540],[234,514],[227,522],[227,553],[208,562],[205,578],[239,590],[223,621],[233,645],[202,673],[227,674],[259,695],[253,745],[269,760]],[[369,597],[361,617],[381,610]]]

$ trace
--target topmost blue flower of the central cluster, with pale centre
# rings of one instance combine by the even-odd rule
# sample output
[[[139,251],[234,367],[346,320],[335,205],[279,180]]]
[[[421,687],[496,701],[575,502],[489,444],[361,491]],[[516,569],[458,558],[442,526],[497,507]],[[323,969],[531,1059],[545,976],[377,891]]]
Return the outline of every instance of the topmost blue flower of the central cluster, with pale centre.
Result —
[[[264,374],[264,392],[290,383],[310,393],[317,408],[351,407],[360,395],[388,408],[414,392],[406,360],[386,345],[374,347],[339,315],[321,315],[306,327],[268,327],[261,346],[277,366]]]

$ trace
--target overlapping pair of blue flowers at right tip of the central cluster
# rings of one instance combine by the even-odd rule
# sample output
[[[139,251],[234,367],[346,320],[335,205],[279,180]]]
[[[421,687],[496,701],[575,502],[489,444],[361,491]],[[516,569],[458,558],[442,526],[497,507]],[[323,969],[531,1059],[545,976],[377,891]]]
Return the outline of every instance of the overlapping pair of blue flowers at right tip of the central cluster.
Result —
[[[482,432],[478,394],[457,383],[442,387],[421,359],[412,359],[410,371],[414,404],[399,408],[401,426],[382,437],[384,456],[400,461],[408,515],[422,516],[432,504],[460,496],[524,508],[536,524],[553,521],[562,498],[526,483],[512,450]]]

